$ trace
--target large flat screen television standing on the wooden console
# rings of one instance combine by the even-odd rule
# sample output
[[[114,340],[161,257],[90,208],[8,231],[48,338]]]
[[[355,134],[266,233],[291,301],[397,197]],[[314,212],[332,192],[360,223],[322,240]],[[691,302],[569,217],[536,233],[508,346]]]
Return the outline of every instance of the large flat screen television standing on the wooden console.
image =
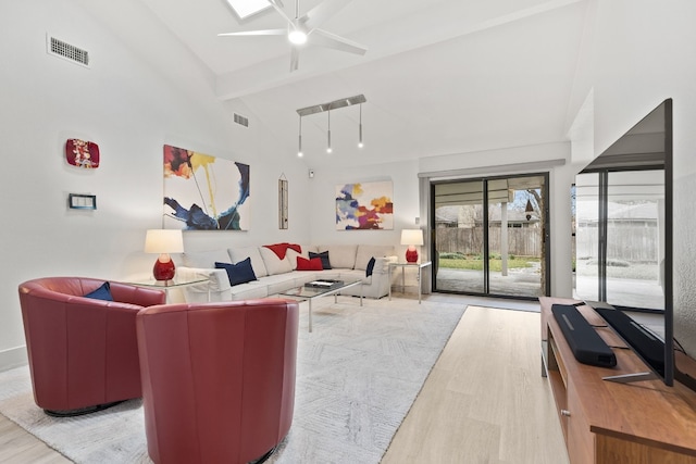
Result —
[[[583,168],[573,187],[575,298],[585,300],[658,377],[696,390],[674,340],[672,100]],[[656,315],[659,327],[625,314]]]

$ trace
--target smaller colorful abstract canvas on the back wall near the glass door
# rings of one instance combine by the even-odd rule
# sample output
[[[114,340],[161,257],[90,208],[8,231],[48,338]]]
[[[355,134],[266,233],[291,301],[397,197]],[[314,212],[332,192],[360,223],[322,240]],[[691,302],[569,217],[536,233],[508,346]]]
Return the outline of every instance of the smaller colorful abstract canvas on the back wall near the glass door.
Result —
[[[394,228],[391,181],[336,186],[336,230]]]

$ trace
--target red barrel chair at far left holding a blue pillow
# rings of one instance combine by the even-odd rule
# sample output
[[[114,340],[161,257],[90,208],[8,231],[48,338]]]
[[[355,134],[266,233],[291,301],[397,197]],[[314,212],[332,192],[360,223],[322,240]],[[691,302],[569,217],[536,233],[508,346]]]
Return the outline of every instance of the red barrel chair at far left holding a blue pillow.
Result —
[[[34,387],[47,414],[70,416],[141,397],[135,317],[161,290],[110,283],[114,301],[83,297],[104,280],[47,277],[21,284]]]

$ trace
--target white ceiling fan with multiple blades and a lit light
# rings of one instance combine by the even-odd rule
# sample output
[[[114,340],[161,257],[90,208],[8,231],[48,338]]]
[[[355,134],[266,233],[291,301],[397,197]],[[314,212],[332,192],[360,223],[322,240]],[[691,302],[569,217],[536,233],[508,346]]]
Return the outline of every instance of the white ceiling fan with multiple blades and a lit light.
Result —
[[[271,7],[287,22],[285,29],[247,30],[241,33],[224,33],[217,36],[287,36],[290,41],[290,72],[299,66],[300,48],[306,42],[349,53],[365,54],[366,48],[344,37],[320,29],[328,18],[338,13],[351,0],[324,0],[302,16],[299,15],[300,1],[295,1],[295,18],[283,11],[281,0],[268,0]]]

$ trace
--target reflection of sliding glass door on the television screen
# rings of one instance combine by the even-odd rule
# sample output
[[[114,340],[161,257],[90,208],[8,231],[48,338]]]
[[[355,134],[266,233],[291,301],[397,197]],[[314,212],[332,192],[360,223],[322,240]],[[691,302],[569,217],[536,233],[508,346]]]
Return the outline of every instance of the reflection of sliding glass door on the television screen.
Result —
[[[664,172],[575,177],[575,296],[664,309]]]

